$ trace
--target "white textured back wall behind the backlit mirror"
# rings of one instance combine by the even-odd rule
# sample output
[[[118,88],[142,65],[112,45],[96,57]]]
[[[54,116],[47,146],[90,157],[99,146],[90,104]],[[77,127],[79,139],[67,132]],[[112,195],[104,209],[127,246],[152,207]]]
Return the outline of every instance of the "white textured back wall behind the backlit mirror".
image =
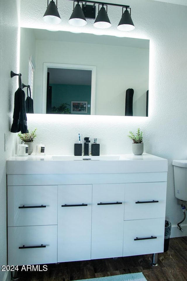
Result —
[[[37,23],[41,27],[46,9],[43,2],[21,2],[22,26],[34,27]],[[70,5],[71,1],[58,2],[59,12],[65,11],[63,5],[67,2]],[[130,36],[150,39],[149,117],[87,116],[85,119],[82,116],[32,115],[28,116],[28,125],[38,128],[38,140],[44,141],[46,152],[56,154],[72,154],[78,133],[97,137],[101,153],[131,153],[127,134],[140,127],[145,151],[168,159],[166,216],[176,224],[183,214],[174,197],[172,160],[187,158],[187,7],[152,0],[130,2],[136,26]],[[70,14],[72,7],[67,11]],[[69,16],[65,12],[61,14],[61,26],[67,29],[65,21]],[[110,16],[110,20],[116,25],[119,21],[116,16]],[[87,32],[93,32],[89,23],[86,28]],[[104,32],[114,35],[115,28]]]

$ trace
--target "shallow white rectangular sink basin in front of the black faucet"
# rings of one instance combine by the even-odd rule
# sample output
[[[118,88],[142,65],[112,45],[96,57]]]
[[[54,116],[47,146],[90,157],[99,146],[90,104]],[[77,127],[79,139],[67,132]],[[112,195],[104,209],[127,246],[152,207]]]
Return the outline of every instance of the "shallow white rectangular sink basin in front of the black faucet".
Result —
[[[101,156],[74,156],[74,155],[54,155],[52,156],[53,160],[55,161],[89,161],[89,160],[104,160],[104,161],[111,161],[111,160],[120,160],[119,155],[101,155]]]

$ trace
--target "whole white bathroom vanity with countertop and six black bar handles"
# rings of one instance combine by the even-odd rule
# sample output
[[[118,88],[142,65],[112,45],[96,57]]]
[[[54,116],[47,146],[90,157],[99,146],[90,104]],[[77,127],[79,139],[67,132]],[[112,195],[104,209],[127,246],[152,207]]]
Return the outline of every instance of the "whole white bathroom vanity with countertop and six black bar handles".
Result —
[[[9,265],[163,251],[166,159],[34,156],[7,161]]]

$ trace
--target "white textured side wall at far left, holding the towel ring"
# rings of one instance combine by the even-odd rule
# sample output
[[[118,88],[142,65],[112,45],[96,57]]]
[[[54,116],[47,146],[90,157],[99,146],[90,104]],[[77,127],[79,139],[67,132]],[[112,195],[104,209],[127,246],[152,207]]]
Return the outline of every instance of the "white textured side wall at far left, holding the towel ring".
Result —
[[[19,71],[18,13],[19,1],[0,1],[0,268],[7,264],[6,226],[6,159],[15,153],[15,134],[10,133],[14,92],[18,78],[11,78],[11,70]],[[17,76],[18,77],[18,76]],[[8,150],[4,151],[4,133],[8,133]],[[0,270],[0,280],[8,272]]]

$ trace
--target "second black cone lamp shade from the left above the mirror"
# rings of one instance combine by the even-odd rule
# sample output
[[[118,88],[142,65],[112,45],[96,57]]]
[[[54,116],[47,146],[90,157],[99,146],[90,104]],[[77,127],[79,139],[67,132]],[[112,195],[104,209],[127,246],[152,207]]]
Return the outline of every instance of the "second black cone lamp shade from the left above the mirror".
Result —
[[[74,25],[74,26],[86,25],[86,18],[79,4],[75,6],[68,22],[70,25]]]

